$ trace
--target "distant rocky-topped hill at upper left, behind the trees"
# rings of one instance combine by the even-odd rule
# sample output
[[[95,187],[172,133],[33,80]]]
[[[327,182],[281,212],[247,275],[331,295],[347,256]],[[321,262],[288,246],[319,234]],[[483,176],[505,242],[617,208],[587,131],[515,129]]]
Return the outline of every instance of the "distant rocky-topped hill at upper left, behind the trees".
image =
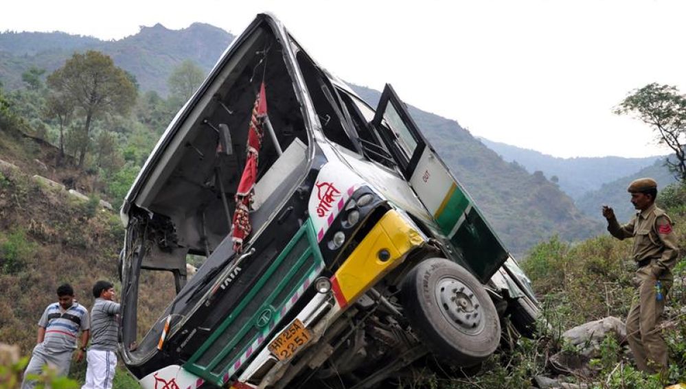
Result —
[[[234,36],[212,25],[193,23],[182,30],[161,24],[141,27],[138,34],[120,40],[74,36],[63,32],[3,32],[0,34],[0,81],[5,89],[23,86],[21,73],[38,67],[50,73],[74,51],[89,49],[111,56],[117,66],[135,75],[144,91],[167,93],[167,79],[183,60],[193,60],[209,71]]]

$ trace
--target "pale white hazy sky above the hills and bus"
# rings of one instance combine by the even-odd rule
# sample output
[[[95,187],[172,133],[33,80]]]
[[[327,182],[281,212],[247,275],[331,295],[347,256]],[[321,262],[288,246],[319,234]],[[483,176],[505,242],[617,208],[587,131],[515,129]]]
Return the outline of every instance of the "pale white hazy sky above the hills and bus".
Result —
[[[613,107],[650,82],[686,93],[686,1],[84,1],[3,5],[0,30],[119,39],[141,25],[240,34],[272,12],[324,67],[554,156],[667,154]]]

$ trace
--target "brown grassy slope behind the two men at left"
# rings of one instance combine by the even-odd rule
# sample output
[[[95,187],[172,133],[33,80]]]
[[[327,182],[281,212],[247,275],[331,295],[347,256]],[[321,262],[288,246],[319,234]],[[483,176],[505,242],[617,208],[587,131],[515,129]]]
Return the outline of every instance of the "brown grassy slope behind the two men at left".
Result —
[[[30,355],[36,322],[43,309],[56,302],[57,285],[71,283],[79,303],[88,308],[98,279],[111,280],[119,288],[117,259],[124,237],[117,213],[99,207],[97,199],[78,200],[32,180],[33,174],[69,173],[52,167],[45,171],[32,163],[25,152],[31,142],[0,126],[0,159],[19,166],[0,167],[0,340],[19,345],[22,355]],[[33,147],[37,156],[46,158],[40,145]],[[149,328],[172,296],[170,280],[160,274],[143,284],[141,294],[149,299],[139,306],[141,327]],[[72,376],[82,381],[85,366],[72,364]],[[120,370],[115,388],[133,384]]]

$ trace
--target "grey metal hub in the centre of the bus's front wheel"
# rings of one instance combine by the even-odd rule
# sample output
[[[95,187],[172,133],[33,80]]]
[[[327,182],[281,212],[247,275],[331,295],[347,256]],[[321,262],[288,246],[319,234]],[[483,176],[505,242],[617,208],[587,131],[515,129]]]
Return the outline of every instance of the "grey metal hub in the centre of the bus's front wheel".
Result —
[[[468,334],[481,331],[483,308],[470,287],[453,277],[444,277],[436,283],[435,294],[450,325]]]

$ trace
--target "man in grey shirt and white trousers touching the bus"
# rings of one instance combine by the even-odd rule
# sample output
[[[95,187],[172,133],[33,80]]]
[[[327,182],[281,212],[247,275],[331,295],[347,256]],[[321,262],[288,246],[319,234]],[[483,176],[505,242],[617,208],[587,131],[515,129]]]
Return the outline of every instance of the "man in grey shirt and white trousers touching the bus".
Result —
[[[88,349],[86,384],[81,389],[111,389],[117,367],[119,304],[114,300],[114,285],[98,281],[93,285],[95,303],[91,308],[91,347]]]

